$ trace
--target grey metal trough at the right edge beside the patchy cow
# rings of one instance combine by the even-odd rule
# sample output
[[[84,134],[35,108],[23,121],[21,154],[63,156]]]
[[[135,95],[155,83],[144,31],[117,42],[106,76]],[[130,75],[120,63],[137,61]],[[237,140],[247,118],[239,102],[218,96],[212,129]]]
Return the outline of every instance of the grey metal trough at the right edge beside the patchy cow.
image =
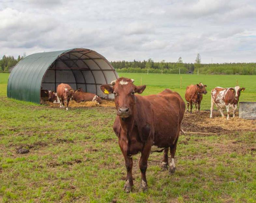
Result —
[[[239,102],[239,118],[256,119],[256,102]]]

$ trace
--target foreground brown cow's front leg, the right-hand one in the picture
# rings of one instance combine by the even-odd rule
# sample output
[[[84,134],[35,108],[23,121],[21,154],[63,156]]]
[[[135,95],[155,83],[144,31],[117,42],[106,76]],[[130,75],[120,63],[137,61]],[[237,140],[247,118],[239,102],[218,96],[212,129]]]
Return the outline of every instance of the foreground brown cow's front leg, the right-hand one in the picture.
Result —
[[[148,141],[144,145],[144,149],[141,152],[141,157],[140,157],[140,160],[139,160],[139,169],[140,169],[140,172],[141,172],[140,187],[143,191],[146,191],[148,189],[146,171],[147,171],[147,168],[148,168],[148,158],[149,158],[149,154],[150,154],[151,143],[152,142]]]

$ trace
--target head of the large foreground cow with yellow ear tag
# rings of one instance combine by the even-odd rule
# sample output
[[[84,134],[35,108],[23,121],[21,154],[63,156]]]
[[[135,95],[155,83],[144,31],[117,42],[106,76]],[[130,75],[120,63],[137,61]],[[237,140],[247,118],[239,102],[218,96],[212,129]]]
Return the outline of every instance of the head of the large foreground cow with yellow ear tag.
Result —
[[[141,94],[146,85],[136,86],[134,79],[119,78],[111,82],[111,85],[101,85],[100,89],[105,94],[114,93],[117,115],[127,118],[133,114],[136,103],[135,93]]]

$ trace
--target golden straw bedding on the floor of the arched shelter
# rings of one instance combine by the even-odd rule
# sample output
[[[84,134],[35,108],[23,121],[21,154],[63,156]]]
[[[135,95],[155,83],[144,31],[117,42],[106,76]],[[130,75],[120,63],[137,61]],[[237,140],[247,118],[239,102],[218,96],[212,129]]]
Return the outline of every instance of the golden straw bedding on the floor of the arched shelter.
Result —
[[[46,105],[49,105],[50,107],[60,107],[60,104],[59,103],[52,103],[52,102],[49,102],[49,101],[45,101],[43,100],[42,101],[42,104],[46,104]],[[68,104],[68,107],[96,107],[96,106],[103,106],[103,107],[115,107],[115,102],[112,101],[112,100],[105,100],[105,99],[102,99],[102,102],[101,104],[97,103],[97,102],[92,102],[92,101],[89,101],[89,102],[75,102],[74,100],[71,100]]]

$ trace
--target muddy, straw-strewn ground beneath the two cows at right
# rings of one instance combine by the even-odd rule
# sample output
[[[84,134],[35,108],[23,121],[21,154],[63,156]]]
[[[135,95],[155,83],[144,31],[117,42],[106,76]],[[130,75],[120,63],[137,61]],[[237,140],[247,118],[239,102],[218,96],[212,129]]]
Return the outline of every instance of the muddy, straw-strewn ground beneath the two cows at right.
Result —
[[[210,118],[210,112],[201,111],[200,113],[185,112],[182,120],[182,129],[189,132],[200,132],[209,134],[230,134],[235,131],[256,132],[256,121],[239,118],[221,117],[219,112],[213,112],[213,118]]]

